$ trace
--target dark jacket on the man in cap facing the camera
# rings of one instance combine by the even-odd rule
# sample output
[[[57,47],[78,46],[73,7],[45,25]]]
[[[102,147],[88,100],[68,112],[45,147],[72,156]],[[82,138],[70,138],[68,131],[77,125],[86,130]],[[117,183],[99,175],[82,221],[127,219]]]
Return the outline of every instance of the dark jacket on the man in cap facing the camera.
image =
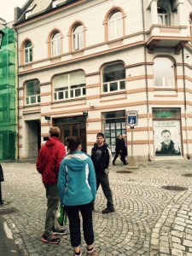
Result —
[[[91,150],[91,159],[96,172],[104,172],[109,166],[110,154],[108,144],[104,143],[102,147],[97,144]]]

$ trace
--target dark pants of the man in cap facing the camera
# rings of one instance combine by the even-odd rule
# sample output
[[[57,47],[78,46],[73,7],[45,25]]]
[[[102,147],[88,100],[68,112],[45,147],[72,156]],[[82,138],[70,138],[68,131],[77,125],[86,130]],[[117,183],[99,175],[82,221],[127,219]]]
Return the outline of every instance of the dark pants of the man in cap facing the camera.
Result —
[[[109,185],[108,174],[105,172],[96,172],[96,190],[102,185],[102,191],[107,199],[107,207],[113,210],[113,195]]]

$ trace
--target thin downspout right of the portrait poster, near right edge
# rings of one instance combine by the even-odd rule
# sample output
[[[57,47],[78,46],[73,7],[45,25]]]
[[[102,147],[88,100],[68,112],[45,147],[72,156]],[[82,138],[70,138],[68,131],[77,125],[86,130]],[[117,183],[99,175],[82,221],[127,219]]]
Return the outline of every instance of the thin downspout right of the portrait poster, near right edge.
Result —
[[[183,65],[183,89],[184,89],[184,119],[186,127],[186,140],[187,140],[187,158],[189,156],[189,137],[188,137],[188,116],[187,116],[187,101],[186,101],[186,84],[185,84],[185,71],[184,71],[184,49],[182,47],[182,65]]]

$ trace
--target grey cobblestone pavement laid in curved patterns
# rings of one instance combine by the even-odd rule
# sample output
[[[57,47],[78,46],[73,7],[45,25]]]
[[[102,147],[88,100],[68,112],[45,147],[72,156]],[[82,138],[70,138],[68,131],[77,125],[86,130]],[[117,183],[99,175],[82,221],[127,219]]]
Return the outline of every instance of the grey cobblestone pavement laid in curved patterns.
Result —
[[[2,166],[0,214],[4,212],[20,255],[71,255],[69,236],[63,236],[59,245],[40,241],[46,200],[35,163],[3,162]],[[119,163],[109,175],[115,212],[102,214],[106,200],[101,188],[94,212],[100,256],[192,256],[192,160],[140,162],[132,171]],[[82,249],[85,255],[84,240]]]

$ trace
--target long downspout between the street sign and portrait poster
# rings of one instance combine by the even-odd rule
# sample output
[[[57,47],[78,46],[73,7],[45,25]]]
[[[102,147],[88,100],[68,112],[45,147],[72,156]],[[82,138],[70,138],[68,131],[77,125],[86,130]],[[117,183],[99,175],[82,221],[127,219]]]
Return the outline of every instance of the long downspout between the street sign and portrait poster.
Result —
[[[144,44],[146,41],[145,36],[145,22],[144,22],[144,6],[142,0],[142,15],[143,15],[143,40]],[[148,161],[151,161],[150,158],[150,128],[149,128],[149,108],[148,108],[148,70],[147,70],[147,54],[146,54],[146,47],[144,45],[144,68],[145,68],[145,87],[146,87],[146,97],[147,97],[147,113],[148,113]]]

